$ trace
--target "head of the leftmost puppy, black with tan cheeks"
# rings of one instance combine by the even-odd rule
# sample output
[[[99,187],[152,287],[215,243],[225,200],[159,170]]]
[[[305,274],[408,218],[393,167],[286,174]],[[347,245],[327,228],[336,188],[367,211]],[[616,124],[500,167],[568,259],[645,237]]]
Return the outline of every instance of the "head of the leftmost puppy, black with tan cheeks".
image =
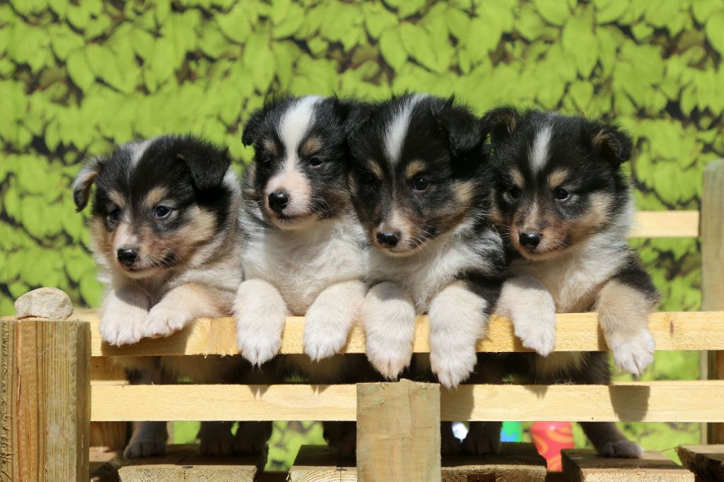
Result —
[[[78,211],[96,184],[91,229],[98,254],[134,279],[184,266],[227,222],[235,187],[226,151],[191,137],[120,145],[73,182]]]

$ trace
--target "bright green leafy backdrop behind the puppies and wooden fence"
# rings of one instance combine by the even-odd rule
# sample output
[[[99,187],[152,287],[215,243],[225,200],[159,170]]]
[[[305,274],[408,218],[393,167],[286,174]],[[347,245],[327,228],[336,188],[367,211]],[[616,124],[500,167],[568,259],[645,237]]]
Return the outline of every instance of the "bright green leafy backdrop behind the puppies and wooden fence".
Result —
[[[1,1],[0,314],[39,286],[98,305],[88,213],[69,190],[85,158],[196,132],[240,166],[240,126],[277,91],[455,92],[479,113],[515,103],[615,119],[636,138],[639,207],[697,209],[702,169],[724,155],[722,54],[721,0]],[[633,244],[662,309],[699,308],[697,240]],[[696,353],[657,354],[647,378],[698,373]],[[275,467],[293,456],[285,441],[319,440],[313,425],[287,428]],[[657,449],[699,434],[626,429]]]

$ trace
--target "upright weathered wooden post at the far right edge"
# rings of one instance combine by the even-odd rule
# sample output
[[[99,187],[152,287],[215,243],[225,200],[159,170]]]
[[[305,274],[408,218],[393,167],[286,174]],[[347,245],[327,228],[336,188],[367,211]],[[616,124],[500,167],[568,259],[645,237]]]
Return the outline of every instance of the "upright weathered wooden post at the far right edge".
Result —
[[[724,160],[704,169],[702,310],[724,310]],[[709,379],[724,379],[724,351],[709,352],[707,373]],[[724,423],[708,424],[707,444],[724,444]]]

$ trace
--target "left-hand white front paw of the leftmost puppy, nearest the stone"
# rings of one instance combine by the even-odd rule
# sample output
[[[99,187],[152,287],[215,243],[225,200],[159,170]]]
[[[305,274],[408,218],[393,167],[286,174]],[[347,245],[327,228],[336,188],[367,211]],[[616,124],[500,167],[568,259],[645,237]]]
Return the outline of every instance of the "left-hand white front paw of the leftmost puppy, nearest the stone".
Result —
[[[101,308],[98,331],[104,342],[115,345],[138,342],[143,337],[143,323],[150,301],[132,286],[111,289]]]

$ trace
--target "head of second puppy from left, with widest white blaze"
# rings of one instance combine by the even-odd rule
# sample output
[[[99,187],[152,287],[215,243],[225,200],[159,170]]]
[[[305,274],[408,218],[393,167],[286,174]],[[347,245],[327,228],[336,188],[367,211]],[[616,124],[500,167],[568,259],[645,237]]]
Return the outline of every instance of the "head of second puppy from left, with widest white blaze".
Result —
[[[280,229],[303,229],[349,206],[345,136],[349,104],[307,96],[267,101],[244,127],[254,145],[245,193]]]

